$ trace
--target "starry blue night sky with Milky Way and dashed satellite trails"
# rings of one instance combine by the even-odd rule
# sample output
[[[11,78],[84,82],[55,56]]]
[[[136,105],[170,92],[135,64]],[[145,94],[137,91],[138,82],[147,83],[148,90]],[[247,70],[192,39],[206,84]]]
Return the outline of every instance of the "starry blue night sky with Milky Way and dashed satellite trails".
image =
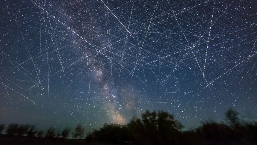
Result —
[[[256,19],[256,0],[1,0],[0,122],[256,119]]]

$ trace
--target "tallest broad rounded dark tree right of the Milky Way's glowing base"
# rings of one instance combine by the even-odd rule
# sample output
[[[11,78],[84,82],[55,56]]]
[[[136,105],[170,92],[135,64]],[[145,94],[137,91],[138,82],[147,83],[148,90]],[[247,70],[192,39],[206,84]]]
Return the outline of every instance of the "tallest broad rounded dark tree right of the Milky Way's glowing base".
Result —
[[[175,141],[183,125],[164,111],[146,110],[141,118],[133,117],[128,123],[129,131],[138,144],[168,144]]]

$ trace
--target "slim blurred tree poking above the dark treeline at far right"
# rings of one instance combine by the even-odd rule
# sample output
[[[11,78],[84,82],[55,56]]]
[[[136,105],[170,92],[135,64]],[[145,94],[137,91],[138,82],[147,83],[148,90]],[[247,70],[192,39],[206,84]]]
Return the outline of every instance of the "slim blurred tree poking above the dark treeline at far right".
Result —
[[[238,118],[238,112],[233,110],[232,108],[229,108],[226,113],[226,122],[228,123],[228,125],[232,128],[236,127],[239,125],[240,120]]]

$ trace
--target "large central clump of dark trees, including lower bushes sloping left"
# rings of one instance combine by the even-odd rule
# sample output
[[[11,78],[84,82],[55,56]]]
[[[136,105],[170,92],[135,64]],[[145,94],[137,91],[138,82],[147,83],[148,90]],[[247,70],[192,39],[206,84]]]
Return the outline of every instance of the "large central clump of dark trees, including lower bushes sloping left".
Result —
[[[104,124],[103,128],[89,133],[87,141],[101,143],[160,144],[177,142],[182,124],[173,115],[163,111],[146,111],[141,118],[133,117],[127,125]]]

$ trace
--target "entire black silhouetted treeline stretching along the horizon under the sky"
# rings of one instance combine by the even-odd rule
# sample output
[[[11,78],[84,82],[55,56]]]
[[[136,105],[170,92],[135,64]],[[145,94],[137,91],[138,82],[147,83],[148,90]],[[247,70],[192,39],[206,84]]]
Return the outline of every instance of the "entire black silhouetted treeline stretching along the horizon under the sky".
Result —
[[[228,109],[225,122],[205,121],[201,126],[189,131],[182,131],[183,125],[174,116],[164,111],[146,110],[141,117],[132,117],[126,125],[104,124],[98,130],[88,133],[86,142],[103,144],[257,144],[257,123],[239,119],[238,112]],[[4,132],[5,131],[5,132]],[[70,137],[71,129],[55,132],[50,127],[46,133],[37,131],[35,125],[0,124],[0,134],[5,136],[27,136],[28,138],[46,138],[59,140]],[[79,123],[74,132],[74,139],[84,136],[84,128]]]

